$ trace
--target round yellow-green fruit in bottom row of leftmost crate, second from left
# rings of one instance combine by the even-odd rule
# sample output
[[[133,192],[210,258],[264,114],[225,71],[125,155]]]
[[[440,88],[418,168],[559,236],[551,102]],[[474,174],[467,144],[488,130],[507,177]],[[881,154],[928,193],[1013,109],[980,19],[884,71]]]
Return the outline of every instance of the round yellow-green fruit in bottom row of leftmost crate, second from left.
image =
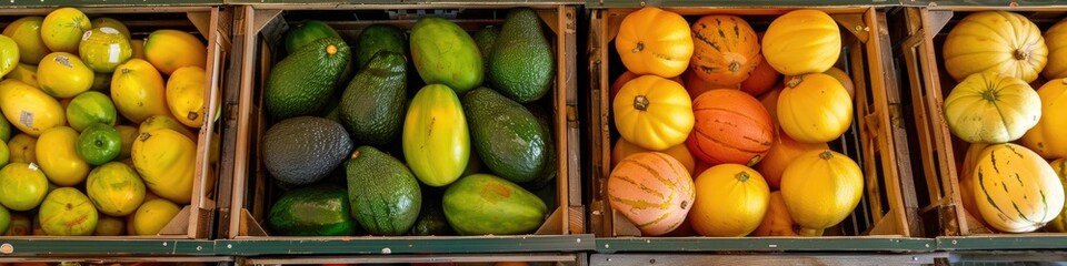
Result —
[[[86,194],[73,187],[60,187],[41,203],[38,219],[50,236],[87,236],[97,228],[99,214]]]

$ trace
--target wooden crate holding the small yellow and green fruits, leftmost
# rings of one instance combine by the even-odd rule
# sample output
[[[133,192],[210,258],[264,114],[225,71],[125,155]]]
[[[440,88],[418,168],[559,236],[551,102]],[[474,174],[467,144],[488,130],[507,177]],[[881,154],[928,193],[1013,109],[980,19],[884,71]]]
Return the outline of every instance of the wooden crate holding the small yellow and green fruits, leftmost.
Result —
[[[0,27],[7,27],[11,21],[27,16],[46,16],[56,8],[3,8],[0,9]],[[205,95],[208,103],[205,115],[215,117],[222,102],[216,95],[222,93],[222,69],[230,50],[229,12],[217,6],[97,6],[78,7],[90,19],[110,17],[122,21],[133,38],[146,38],[148,33],[159,29],[177,29],[192,32],[207,44],[207,65],[205,65]],[[221,119],[220,119],[221,121]],[[211,120],[205,120],[198,136],[196,177],[193,178],[192,202],[185,205],[178,216],[170,221],[156,236],[123,236],[123,237],[62,237],[70,239],[123,239],[123,238],[189,238],[206,239],[210,237],[215,221],[215,190],[218,181],[220,163],[209,161],[212,132],[221,127]],[[31,237],[36,238],[36,237]],[[43,238],[43,237],[42,237]],[[56,239],[58,237],[48,237]]]

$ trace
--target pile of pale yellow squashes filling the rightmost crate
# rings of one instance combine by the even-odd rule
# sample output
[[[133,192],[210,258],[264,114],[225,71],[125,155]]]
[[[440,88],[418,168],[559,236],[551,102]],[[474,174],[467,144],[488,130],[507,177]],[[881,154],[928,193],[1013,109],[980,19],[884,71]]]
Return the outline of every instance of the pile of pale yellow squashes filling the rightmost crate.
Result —
[[[957,164],[960,201],[993,232],[1067,232],[1064,29],[1059,21],[1041,34],[1018,13],[974,12],[950,28],[939,51],[958,82],[943,115],[969,144]]]

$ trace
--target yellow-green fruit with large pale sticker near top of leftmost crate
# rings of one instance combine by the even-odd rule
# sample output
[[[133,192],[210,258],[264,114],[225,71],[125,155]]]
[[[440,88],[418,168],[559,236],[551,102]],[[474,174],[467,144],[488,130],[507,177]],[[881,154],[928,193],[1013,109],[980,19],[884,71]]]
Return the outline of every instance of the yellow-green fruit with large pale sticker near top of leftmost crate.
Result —
[[[78,44],[78,54],[94,72],[111,73],[133,53],[130,40],[114,28],[104,27],[87,31]]]

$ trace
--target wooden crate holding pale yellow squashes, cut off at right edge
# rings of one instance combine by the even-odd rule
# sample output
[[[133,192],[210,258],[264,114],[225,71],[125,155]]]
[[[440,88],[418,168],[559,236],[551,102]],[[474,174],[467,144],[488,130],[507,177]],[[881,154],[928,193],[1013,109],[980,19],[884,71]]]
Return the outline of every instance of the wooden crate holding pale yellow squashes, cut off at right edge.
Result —
[[[959,196],[959,164],[967,152],[967,143],[951,135],[941,106],[944,99],[957,82],[948,76],[941,65],[941,45],[953,27],[969,13],[1004,10],[1020,13],[1034,21],[1044,32],[1060,19],[1067,18],[1067,7],[1031,3],[1020,7],[1013,2],[1005,6],[945,6],[906,8],[906,27],[900,41],[900,55],[907,71],[904,82],[909,82],[910,101],[914,103],[919,154],[923,156],[923,175],[928,195],[921,195],[923,215],[937,222],[937,235],[941,236],[994,236],[976,217],[964,209]],[[1044,79],[1044,78],[1041,78]],[[1038,81],[1040,82],[1040,81]],[[1040,83],[1044,84],[1044,83]],[[1038,86],[1040,84],[1037,84]],[[1037,89],[1035,86],[1034,89]],[[918,174],[918,173],[917,173]],[[926,200],[928,198],[928,201]],[[933,222],[933,221],[931,221]],[[1056,234],[1003,234],[998,236],[1033,236]],[[1061,235],[1061,234],[1059,234]],[[953,241],[954,245],[956,244]],[[1010,244],[1007,244],[1009,247]]]

